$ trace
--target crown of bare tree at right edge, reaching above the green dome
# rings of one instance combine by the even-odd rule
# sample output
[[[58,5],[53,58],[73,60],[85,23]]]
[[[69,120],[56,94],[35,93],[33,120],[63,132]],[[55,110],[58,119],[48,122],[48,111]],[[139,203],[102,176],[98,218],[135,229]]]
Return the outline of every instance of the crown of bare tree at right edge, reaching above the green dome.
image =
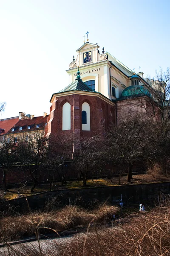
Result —
[[[170,67],[156,71],[156,79],[145,79],[142,87],[133,89],[133,96],[128,99],[131,107],[142,108],[145,112],[159,116],[161,120],[170,114]],[[140,91],[141,88],[141,91]]]

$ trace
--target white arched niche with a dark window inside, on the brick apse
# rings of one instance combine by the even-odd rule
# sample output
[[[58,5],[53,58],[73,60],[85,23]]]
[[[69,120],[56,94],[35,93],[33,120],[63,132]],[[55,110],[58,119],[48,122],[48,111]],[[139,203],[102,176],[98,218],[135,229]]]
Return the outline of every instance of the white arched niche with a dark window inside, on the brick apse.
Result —
[[[82,104],[82,131],[90,131],[90,106],[87,102]]]

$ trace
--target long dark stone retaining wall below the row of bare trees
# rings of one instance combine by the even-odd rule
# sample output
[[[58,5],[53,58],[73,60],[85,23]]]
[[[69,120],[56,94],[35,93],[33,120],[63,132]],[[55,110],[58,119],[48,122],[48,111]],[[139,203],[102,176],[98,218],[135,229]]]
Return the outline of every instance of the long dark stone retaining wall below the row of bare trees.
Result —
[[[64,189],[44,192],[27,197],[31,209],[42,209],[48,200],[57,196],[59,205],[64,206],[73,204],[76,200],[84,202],[85,205],[95,201],[111,204],[119,203],[122,195],[124,205],[130,204],[154,204],[158,200],[160,193],[167,194],[170,192],[170,182],[148,183],[139,185],[123,185],[97,188],[82,189]],[[22,211],[28,208],[26,198],[17,198],[8,201],[10,204],[18,207]]]

